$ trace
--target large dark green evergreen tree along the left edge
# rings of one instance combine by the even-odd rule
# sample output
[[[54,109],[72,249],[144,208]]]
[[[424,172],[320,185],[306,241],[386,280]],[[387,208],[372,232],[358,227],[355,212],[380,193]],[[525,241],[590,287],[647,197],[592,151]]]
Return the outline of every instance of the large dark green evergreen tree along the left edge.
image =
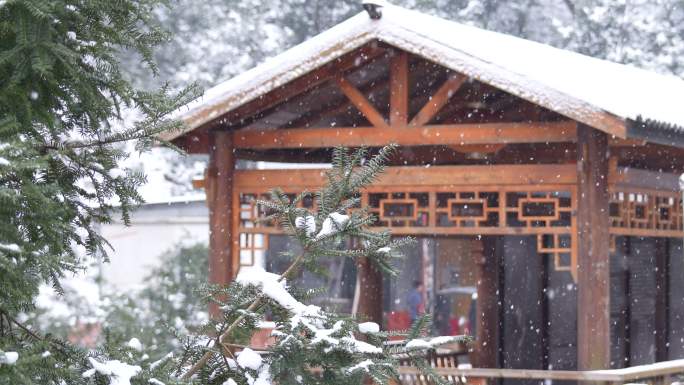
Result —
[[[0,1],[0,383],[96,381],[82,376],[92,367],[85,351],[22,323],[21,313],[41,284],[59,291],[87,255],[106,256],[97,224],[115,209],[128,221],[144,182],[117,167],[128,155],[122,143],[149,148],[156,133],[180,126],[171,112],[197,95],[137,90],[119,68],[119,51],[130,49],[155,70],[152,50],[167,38],[151,22],[159,4]],[[137,118],[123,121],[129,112]]]

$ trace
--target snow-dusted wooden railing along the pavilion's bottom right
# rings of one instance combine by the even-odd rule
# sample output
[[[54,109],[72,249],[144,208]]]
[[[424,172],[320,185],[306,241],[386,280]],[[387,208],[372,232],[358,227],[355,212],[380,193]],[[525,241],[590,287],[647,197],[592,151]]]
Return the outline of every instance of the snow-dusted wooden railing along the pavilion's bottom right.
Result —
[[[435,367],[436,374],[452,384],[492,385],[498,379],[576,381],[579,383],[603,383],[617,385],[640,383],[649,385],[671,385],[684,378],[684,359],[658,362],[613,370],[534,370],[534,369],[489,369],[489,368],[444,368]],[[432,385],[415,367],[399,368],[401,385]]]

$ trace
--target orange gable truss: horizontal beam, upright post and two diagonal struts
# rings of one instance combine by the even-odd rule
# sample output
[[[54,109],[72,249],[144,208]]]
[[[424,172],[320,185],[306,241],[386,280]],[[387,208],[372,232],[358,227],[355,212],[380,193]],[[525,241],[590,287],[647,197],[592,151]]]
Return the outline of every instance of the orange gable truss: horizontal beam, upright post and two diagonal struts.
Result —
[[[336,146],[372,147],[393,142],[400,146],[493,144],[501,148],[501,145],[508,143],[557,143],[573,142],[576,139],[577,124],[569,120],[430,124],[447,106],[452,96],[469,81],[466,76],[454,72],[451,72],[432,92],[414,116],[410,116],[408,61],[409,55],[403,51],[394,51],[390,59],[388,116],[383,115],[366,96],[364,90],[354,85],[344,71],[335,77],[326,74],[322,78],[335,84],[345,95],[349,105],[354,106],[370,126],[310,127],[310,121],[295,119],[288,128],[236,130],[233,132],[234,146],[236,149],[268,150]],[[320,84],[321,79],[317,78],[317,82]],[[341,106],[343,110],[347,107],[346,104]],[[338,109],[333,108],[333,111]],[[327,114],[330,111],[320,113]]]

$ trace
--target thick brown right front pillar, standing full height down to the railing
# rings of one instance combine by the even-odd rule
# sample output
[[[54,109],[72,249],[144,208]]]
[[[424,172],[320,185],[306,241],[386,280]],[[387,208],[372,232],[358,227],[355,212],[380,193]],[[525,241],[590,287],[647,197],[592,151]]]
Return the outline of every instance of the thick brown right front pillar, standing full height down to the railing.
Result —
[[[610,367],[610,234],[608,138],[577,130],[577,362],[578,369]]]

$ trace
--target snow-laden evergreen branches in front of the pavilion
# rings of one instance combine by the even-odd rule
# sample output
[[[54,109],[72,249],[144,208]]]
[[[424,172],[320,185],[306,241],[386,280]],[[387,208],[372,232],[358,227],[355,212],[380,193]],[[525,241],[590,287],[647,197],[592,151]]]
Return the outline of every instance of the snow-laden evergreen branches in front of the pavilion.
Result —
[[[367,257],[385,273],[394,272],[393,258],[412,240],[369,230],[375,218],[360,207],[359,200],[360,190],[382,172],[392,150],[392,146],[383,148],[367,160],[365,149],[352,153],[335,149],[328,182],[313,194],[316,210],[298,207],[311,195],[308,192],[290,199],[276,190],[269,201],[259,202],[270,213],[266,220],[278,223],[302,251],[291,255],[290,266],[279,275],[253,267],[227,287],[208,288],[206,298],[216,303],[221,313],[205,326],[204,335],[185,339],[178,361],[181,378],[207,385],[352,385],[366,377],[386,384],[397,376],[396,355],[385,344],[389,333],[369,332],[353,317],[305,305],[306,293],[286,284],[301,269],[331,256]],[[345,247],[350,239],[357,240],[358,247]],[[275,323],[275,342],[258,356],[245,345],[267,316]],[[423,318],[406,335],[418,338],[428,324],[429,319]],[[447,338],[443,343],[462,338]],[[421,350],[424,348],[404,349],[403,353],[424,364]]]

